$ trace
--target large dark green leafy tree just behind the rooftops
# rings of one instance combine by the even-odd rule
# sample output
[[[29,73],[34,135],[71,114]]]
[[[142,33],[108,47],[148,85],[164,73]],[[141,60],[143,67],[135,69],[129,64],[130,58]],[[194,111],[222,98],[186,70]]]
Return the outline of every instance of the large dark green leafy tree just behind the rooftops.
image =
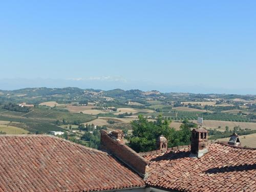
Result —
[[[128,145],[136,152],[148,152],[156,150],[156,140],[160,135],[164,135],[168,140],[168,147],[187,145],[190,143],[191,127],[196,127],[195,123],[184,120],[180,130],[169,127],[170,121],[159,115],[156,121],[148,121],[142,115],[138,120],[131,122],[133,132],[127,137]]]

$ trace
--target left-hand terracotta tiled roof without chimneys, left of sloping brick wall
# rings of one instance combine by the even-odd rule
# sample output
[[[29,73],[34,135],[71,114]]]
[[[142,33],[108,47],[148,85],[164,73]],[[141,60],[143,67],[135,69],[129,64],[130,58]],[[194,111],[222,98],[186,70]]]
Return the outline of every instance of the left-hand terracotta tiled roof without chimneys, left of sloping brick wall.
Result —
[[[144,186],[107,153],[52,136],[0,136],[0,191],[93,191]]]

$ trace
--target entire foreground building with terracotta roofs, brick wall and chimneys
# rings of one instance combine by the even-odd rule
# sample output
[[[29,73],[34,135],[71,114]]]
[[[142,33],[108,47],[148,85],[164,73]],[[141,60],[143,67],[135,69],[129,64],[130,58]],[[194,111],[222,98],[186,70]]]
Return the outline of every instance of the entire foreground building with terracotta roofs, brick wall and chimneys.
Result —
[[[256,149],[209,142],[136,153],[122,131],[101,131],[101,151],[47,135],[0,136],[0,191],[256,191]],[[231,139],[232,140],[232,139]],[[238,146],[236,146],[238,145]]]

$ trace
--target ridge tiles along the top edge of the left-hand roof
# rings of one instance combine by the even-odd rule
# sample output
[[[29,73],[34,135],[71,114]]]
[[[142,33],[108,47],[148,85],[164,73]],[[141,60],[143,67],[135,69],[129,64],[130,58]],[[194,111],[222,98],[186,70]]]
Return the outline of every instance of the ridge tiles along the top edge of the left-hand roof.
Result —
[[[94,152],[98,152],[98,153],[102,153],[102,154],[108,154],[106,152],[96,150],[96,148],[91,148],[91,147],[88,147],[88,146],[84,146],[84,145],[81,145],[81,144],[78,144],[78,143],[74,143],[70,140],[63,139],[63,138],[60,138],[60,137],[57,137],[57,136],[54,136],[54,135],[48,135],[48,134],[1,134],[0,137],[51,137],[51,138],[54,138],[54,139],[59,139],[59,140],[71,143],[71,144],[73,144],[75,146],[78,146],[78,147],[86,148],[87,150],[90,150],[90,151],[94,151]]]

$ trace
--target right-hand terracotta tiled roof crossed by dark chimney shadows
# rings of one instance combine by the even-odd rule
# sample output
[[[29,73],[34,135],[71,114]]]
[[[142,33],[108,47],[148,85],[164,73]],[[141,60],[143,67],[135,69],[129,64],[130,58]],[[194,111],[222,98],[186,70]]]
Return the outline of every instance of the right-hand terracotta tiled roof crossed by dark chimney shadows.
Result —
[[[190,149],[147,154],[146,184],[180,191],[256,191],[256,150],[221,143],[201,158]]]

